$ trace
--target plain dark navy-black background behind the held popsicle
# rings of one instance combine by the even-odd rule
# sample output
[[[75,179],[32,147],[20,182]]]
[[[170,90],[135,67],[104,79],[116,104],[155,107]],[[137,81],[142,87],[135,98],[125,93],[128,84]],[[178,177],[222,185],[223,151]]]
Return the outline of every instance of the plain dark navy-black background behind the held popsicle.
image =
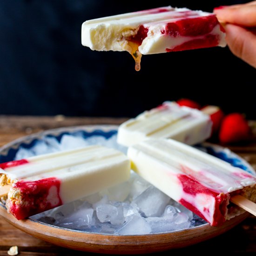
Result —
[[[256,119],[256,69],[228,47],[145,55],[81,45],[81,24],[171,5],[212,12],[236,0],[0,0],[0,115],[133,117],[187,97]]]

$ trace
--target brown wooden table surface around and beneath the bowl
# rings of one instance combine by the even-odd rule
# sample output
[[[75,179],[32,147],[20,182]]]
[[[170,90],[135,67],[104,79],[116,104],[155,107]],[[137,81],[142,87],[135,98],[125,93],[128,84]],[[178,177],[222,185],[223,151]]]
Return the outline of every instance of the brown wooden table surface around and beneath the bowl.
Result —
[[[33,116],[0,116],[0,146],[43,130],[67,126],[92,125],[92,124],[120,124],[125,118],[86,118],[86,117],[33,117]],[[250,122],[255,127],[256,122]],[[254,131],[256,135],[256,131]],[[255,136],[256,137],[256,136]],[[232,151],[242,156],[256,168],[256,138],[245,145],[229,147]],[[19,255],[26,256],[77,256],[96,255],[88,252],[75,251],[55,246],[30,236],[0,217],[0,256],[6,256],[11,246],[18,246]],[[249,216],[245,221],[228,232],[182,249],[173,249],[168,253],[202,253],[220,254],[256,253],[256,217]],[[163,255],[166,252],[157,253]]]

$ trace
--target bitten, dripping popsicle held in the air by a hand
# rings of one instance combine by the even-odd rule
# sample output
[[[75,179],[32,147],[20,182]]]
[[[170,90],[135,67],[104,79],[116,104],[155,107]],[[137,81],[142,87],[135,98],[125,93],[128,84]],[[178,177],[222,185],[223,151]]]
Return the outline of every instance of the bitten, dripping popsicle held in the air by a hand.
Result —
[[[137,71],[142,54],[226,46],[215,14],[170,6],[87,20],[81,43],[97,51],[128,51]]]

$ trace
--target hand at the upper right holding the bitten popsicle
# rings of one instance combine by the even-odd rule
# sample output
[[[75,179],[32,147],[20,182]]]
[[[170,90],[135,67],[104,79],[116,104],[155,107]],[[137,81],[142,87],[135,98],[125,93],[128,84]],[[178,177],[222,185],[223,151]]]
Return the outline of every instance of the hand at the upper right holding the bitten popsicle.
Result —
[[[230,51],[256,68],[256,1],[217,7],[214,13],[226,31]]]

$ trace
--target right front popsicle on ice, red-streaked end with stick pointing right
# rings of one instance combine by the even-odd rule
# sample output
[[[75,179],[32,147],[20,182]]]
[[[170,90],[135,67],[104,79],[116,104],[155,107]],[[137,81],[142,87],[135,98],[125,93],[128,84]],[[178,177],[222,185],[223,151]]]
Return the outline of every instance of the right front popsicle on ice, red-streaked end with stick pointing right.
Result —
[[[212,226],[241,214],[232,196],[256,202],[256,176],[179,141],[142,141],[128,148],[132,169]]]

